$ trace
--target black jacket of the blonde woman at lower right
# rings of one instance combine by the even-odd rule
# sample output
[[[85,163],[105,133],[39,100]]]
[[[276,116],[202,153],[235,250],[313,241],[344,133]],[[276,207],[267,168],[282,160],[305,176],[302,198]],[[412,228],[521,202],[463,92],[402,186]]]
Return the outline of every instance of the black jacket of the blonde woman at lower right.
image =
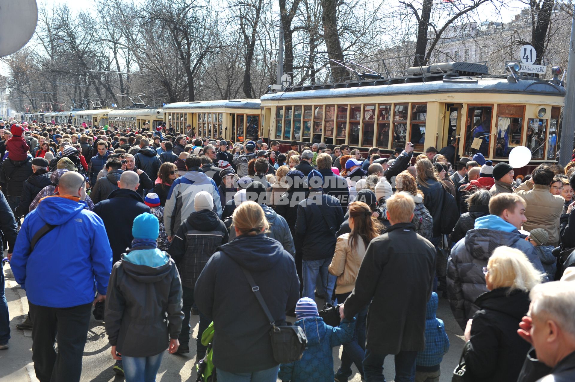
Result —
[[[530,345],[517,334],[517,328],[529,310],[527,292],[509,288],[485,292],[475,302],[480,308],[473,315],[470,344],[463,357],[467,365],[466,381],[516,381]]]

